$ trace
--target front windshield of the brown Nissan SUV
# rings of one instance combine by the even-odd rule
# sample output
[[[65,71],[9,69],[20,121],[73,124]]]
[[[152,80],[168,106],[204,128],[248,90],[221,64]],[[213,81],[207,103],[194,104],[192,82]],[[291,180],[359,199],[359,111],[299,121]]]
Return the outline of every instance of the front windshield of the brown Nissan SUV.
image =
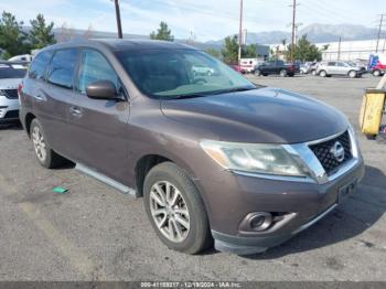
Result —
[[[137,87],[156,98],[256,88],[239,73],[200,51],[118,52],[118,57]]]

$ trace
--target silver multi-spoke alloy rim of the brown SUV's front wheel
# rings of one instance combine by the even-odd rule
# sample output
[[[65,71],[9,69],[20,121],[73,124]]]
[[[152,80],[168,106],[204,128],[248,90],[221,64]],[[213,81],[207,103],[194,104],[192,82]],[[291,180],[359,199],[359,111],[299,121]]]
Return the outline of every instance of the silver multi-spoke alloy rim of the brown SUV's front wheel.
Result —
[[[149,202],[151,216],[162,235],[173,243],[185,240],[191,222],[179,189],[168,181],[159,181],[150,190]]]

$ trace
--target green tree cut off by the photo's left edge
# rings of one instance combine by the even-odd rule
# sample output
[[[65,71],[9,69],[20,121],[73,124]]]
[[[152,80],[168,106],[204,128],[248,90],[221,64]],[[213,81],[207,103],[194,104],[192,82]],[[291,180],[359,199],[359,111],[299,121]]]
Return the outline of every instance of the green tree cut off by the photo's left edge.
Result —
[[[23,22],[18,22],[15,17],[3,11],[0,19],[0,47],[6,50],[6,55],[13,56],[29,52],[25,43],[26,35],[22,31]]]

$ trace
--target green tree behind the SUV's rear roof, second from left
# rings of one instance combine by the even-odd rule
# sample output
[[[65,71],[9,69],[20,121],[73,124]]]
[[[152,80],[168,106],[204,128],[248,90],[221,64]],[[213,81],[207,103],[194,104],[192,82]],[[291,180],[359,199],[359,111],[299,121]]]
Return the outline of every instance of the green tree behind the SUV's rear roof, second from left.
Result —
[[[30,23],[32,29],[29,34],[29,40],[33,49],[40,50],[46,45],[56,43],[55,35],[52,32],[54,22],[46,24],[44,15],[37,14],[36,19],[31,20]]]

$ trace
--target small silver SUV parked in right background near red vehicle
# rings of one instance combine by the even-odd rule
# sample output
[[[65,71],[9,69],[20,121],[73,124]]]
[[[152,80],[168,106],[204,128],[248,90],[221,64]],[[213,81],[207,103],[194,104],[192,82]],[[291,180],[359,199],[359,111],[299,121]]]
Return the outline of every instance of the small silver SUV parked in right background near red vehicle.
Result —
[[[322,62],[317,69],[317,74],[322,77],[343,75],[355,78],[361,77],[363,73],[361,67],[343,61]]]

